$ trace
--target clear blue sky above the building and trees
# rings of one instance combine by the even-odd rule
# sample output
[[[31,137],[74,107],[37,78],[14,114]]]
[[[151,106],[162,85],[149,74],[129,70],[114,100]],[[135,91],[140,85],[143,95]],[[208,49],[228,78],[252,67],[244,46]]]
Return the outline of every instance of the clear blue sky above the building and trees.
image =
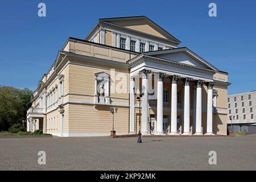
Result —
[[[38,17],[38,3],[46,17]],[[208,16],[210,2],[217,17]],[[69,36],[83,39],[98,18],[146,15],[221,71],[229,94],[256,90],[256,1],[2,1],[0,85],[36,89]]]

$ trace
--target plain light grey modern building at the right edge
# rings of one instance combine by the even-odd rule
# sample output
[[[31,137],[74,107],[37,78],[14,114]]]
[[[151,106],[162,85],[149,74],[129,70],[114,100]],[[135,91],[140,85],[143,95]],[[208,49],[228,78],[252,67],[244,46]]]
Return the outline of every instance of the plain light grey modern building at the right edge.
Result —
[[[228,96],[229,131],[256,133],[256,90]]]

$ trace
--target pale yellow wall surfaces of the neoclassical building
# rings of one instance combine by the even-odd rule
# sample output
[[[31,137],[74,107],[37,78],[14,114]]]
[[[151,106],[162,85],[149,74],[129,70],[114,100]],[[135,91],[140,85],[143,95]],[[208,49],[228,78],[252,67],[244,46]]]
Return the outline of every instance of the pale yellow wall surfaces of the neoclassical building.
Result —
[[[154,24],[143,20],[123,22],[117,20],[110,23],[168,39],[162,30],[160,31]],[[34,93],[32,107],[40,109],[45,104],[46,110],[38,115],[35,112],[28,113],[28,117],[33,117],[38,122],[41,118],[42,129],[46,133],[63,137],[110,135],[113,127],[113,115],[110,113],[110,107],[115,107],[117,111],[114,113],[114,129],[117,135],[129,134],[131,67],[127,61],[139,56],[139,53],[114,47],[113,32],[110,30],[104,30],[103,37],[106,46],[100,44],[100,33],[97,30],[94,32],[96,38],[94,43],[80,39],[67,40],[61,50],[63,52],[59,53],[55,64],[41,80],[43,84]],[[115,44],[117,44],[116,40],[117,38],[114,39]],[[107,104],[98,104],[95,101],[97,82],[95,74],[101,72],[110,75],[110,102]],[[213,80],[216,81],[213,89],[217,93],[217,111],[213,113],[213,133],[226,135],[228,74],[216,71]],[[124,83],[120,88],[117,86],[119,82]],[[112,86],[113,83],[115,86]],[[152,86],[154,87],[154,82],[152,82]],[[167,102],[163,103],[163,115],[167,118],[167,125],[170,129],[172,86],[168,78],[165,78],[163,82],[163,89],[168,93]],[[126,92],[123,93],[123,90]],[[177,103],[177,117],[180,119],[180,125],[183,125],[184,85],[182,82],[178,82],[177,92],[180,97]],[[196,98],[194,98],[194,92],[195,84],[192,84],[189,97],[190,126],[193,126],[193,121],[195,121],[193,111]],[[42,101],[43,93],[46,93],[46,102]],[[135,133],[138,133],[139,108],[137,101],[135,101],[135,106],[134,126]],[[148,123],[153,116],[157,119],[156,100],[149,101]],[[206,133],[207,86],[205,85],[202,89],[202,127],[203,133]]]

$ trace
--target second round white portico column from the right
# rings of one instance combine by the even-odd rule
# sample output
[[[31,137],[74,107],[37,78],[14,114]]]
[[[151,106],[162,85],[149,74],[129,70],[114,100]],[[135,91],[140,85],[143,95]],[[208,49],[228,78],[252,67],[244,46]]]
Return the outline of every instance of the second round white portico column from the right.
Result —
[[[203,81],[199,80],[196,83],[196,133],[202,135],[202,85]]]

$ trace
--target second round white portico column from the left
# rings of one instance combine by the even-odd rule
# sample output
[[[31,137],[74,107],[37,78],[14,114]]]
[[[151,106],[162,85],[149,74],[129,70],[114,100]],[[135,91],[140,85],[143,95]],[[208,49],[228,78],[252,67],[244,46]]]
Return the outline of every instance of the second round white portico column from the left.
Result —
[[[158,107],[157,107],[157,126],[156,134],[161,135],[163,133],[163,80],[164,73],[158,74]]]

